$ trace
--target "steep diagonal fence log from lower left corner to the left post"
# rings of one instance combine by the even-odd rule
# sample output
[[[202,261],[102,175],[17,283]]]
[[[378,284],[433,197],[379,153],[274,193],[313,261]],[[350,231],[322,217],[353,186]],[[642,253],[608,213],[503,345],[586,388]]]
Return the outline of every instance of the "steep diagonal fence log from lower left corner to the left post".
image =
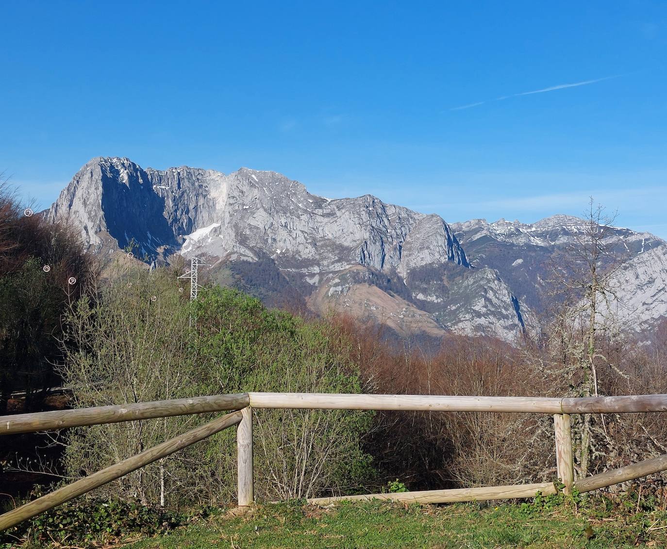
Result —
[[[58,488],[58,490],[51,492],[51,494],[37,498],[21,507],[17,507],[16,509],[0,515],[0,530],[11,528],[11,526],[15,526],[16,524],[19,524],[19,522],[23,522],[23,520],[43,513],[44,511],[52,509],[55,506],[76,498],[77,496],[86,494],[91,490],[95,490],[95,488],[99,488],[99,486],[103,486],[103,484],[107,484],[108,482],[120,478],[121,476],[125,476],[145,465],[161,460],[182,448],[190,446],[195,442],[199,442],[199,440],[203,440],[226,429],[227,427],[236,425],[241,421],[241,417],[241,412],[239,411],[217,418],[212,422],[167,440],[162,444],[158,444],[150,450],[145,450],[144,452],[141,452],[141,454],[127,458],[127,460],[118,462],[117,464],[93,473],[86,478],[77,480],[72,484],[67,484],[67,486],[63,486],[63,488]]]

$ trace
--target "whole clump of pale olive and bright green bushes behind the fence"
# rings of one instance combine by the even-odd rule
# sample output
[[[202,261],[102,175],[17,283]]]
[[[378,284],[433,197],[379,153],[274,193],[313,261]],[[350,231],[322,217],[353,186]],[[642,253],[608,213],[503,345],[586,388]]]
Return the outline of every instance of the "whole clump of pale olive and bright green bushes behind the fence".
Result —
[[[360,392],[356,364],[340,332],[264,308],[235,290],[210,288],[193,306],[174,273],[119,273],[97,302],[69,316],[63,367],[80,386],[79,407],[243,391]],[[211,419],[183,416],[71,432],[73,475],[89,474]],[[360,437],[370,414],[259,410],[255,413],[258,498],[344,490],[368,474]],[[143,504],[233,499],[235,434],[221,432],[106,488]]]

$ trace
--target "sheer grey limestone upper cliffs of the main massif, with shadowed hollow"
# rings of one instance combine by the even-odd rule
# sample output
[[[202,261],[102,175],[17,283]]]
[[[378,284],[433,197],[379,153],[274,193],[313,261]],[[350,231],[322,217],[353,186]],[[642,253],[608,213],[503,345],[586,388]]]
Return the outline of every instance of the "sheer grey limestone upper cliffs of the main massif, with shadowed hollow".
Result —
[[[438,216],[371,195],[326,199],[272,171],[158,171],[126,158],[97,158],[79,170],[48,215],[71,218],[93,247],[108,233],[119,247],[134,239],[149,257],[160,248],[213,257],[268,254],[308,278],[353,265],[404,273],[424,263],[468,265]]]

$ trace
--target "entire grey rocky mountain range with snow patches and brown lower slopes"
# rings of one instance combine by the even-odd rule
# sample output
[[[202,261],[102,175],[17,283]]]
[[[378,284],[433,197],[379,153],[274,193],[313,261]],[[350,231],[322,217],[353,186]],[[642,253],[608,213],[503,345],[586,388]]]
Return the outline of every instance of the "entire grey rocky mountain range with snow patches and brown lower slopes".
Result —
[[[97,253],[135,243],[149,263],[201,257],[213,278],[268,304],[368,316],[402,335],[506,341],[548,307],[548,262],[584,229],[567,215],[448,224],[372,195],[312,195],[273,171],[160,171],[116,157],[84,165],[45,215],[69,219]],[[616,228],[606,245],[629,259],[620,317],[653,328],[667,315],[667,243]]]

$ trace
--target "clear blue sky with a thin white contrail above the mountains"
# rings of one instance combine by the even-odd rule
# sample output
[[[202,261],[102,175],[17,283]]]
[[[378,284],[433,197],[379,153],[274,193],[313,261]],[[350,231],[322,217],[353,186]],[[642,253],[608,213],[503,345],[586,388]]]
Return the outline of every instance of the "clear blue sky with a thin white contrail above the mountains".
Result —
[[[667,237],[664,2],[6,1],[0,19],[0,171],[43,207],[116,155],[448,221],[593,195]]]

